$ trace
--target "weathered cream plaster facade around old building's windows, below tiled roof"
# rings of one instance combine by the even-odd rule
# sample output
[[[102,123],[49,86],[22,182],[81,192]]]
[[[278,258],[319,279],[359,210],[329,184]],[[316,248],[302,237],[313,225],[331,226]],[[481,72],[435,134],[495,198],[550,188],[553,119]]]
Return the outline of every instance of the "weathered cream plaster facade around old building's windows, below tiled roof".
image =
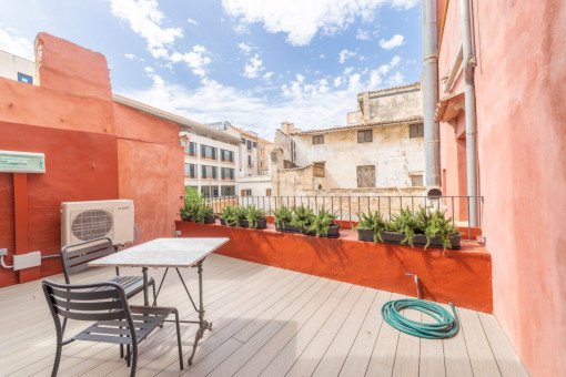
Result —
[[[373,142],[358,143],[357,131],[324,132],[324,144],[312,134],[297,134],[296,164],[325,161],[325,190],[357,186],[356,166],[375,165],[376,187],[410,187],[410,174],[424,172],[423,137],[408,137],[408,124],[374,126]]]

